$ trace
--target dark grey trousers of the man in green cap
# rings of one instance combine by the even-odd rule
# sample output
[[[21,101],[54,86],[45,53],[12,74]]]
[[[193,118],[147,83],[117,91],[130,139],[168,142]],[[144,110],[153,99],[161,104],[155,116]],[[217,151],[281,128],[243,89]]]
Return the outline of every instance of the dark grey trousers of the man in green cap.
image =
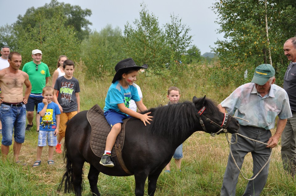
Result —
[[[270,130],[251,126],[241,125],[239,133],[241,135],[245,135],[246,137],[256,139],[264,143],[267,143],[267,141],[271,137]],[[234,134],[232,135],[231,142],[235,142]],[[267,162],[271,153],[271,148],[266,148],[266,145],[264,144],[251,141],[238,135],[237,143],[231,145],[231,151],[240,169],[244,162],[245,155],[247,155],[248,152],[251,152],[253,157],[253,176],[251,178],[253,178]],[[243,196],[260,195],[266,184],[268,170],[269,163],[264,167],[261,173],[254,180],[248,182]],[[228,163],[224,173],[223,184],[221,188],[221,196],[236,195],[235,191],[239,174],[240,171],[236,167],[231,155],[229,154]]]

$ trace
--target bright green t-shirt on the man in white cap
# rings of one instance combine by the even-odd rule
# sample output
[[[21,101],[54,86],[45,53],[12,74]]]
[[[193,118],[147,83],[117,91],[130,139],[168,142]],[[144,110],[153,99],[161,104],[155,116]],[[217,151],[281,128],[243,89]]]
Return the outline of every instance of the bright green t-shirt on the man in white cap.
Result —
[[[33,61],[27,62],[23,67],[23,72],[29,75],[29,80],[32,84],[31,93],[42,93],[42,89],[46,84],[46,77],[50,76],[47,65],[41,62],[36,70],[36,64]]]

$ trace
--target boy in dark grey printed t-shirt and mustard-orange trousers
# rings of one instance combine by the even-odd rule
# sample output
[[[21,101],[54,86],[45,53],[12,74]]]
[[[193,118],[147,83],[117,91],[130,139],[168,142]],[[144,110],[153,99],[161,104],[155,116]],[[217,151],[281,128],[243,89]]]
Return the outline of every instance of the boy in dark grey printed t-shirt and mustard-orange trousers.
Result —
[[[63,70],[65,75],[57,78],[55,81],[55,95],[53,99],[61,111],[60,130],[55,147],[57,153],[62,153],[61,142],[63,137],[65,137],[66,123],[80,112],[80,88],[78,80],[73,77],[74,62],[71,60],[64,61]],[[58,91],[59,94],[56,97]]]

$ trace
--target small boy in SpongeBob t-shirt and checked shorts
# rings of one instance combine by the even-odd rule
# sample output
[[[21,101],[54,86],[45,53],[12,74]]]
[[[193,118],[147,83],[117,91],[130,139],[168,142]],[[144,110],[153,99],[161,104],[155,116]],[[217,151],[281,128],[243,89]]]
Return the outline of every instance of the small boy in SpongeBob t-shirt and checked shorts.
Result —
[[[37,113],[40,114],[40,125],[37,147],[37,161],[33,167],[38,167],[41,163],[41,154],[43,146],[48,143],[48,165],[55,162],[52,160],[54,147],[56,146],[56,135],[59,134],[60,125],[60,109],[59,106],[52,101],[54,90],[51,86],[46,86],[42,90],[44,99],[38,104]]]

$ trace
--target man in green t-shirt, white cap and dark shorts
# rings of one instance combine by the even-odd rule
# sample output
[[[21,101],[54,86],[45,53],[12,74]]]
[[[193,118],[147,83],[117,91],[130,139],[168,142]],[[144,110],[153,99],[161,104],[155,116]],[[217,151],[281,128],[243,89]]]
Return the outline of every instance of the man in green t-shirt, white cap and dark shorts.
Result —
[[[42,89],[48,82],[50,73],[47,65],[41,62],[42,52],[39,49],[32,50],[33,61],[26,63],[23,67],[23,71],[29,75],[29,80],[32,84],[32,90],[26,104],[27,120],[28,124],[26,131],[31,130],[33,127],[34,108],[36,110],[36,126],[39,130],[40,116],[37,114],[38,104],[42,103]]]

